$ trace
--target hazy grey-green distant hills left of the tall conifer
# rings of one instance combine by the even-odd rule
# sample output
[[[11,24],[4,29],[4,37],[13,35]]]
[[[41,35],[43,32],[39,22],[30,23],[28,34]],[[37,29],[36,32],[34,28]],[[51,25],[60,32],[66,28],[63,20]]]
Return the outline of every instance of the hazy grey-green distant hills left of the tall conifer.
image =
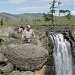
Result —
[[[0,18],[6,21],[20,21],[22,20],[33,20],[33,19],[43,19],[42,13],[23,13],[18,15],[13,15],[10,13],[2,12],[0,13]]]

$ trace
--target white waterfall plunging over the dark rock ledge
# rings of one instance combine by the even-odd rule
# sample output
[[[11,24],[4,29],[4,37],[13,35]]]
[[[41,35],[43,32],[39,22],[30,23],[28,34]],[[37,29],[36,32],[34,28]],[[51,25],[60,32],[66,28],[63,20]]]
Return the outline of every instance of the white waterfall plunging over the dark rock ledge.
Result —
[[[60,33],[52,33],[50,37],[54,44],[55,75],[73,75],[70,43]]]

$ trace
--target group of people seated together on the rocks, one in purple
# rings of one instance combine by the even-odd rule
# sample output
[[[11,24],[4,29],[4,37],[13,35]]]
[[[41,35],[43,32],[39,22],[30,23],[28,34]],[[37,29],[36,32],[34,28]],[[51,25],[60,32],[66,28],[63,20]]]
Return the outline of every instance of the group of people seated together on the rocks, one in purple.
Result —
[[[34,31],[31,29],[30,25],[27,25],[26,27],[15,27],[14,30],[21,34],[21,38],[24,43],[30,43],[32,38],[35,38]]]

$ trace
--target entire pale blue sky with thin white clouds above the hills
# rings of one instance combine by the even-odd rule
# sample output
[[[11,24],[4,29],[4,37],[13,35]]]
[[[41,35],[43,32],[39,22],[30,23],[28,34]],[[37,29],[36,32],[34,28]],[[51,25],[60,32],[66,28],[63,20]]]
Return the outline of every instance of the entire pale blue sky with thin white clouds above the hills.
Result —
[[[50,2],[52,0],[0,0],[0,12],[11,14],[22,13],[47,13],[50,11]],[[56,0],[60,1],[60,9],[70,10],[75,15],[75,0]],[[57,3],[56,3],[56,6]],[[56,15],[58,15],[57,8]]]

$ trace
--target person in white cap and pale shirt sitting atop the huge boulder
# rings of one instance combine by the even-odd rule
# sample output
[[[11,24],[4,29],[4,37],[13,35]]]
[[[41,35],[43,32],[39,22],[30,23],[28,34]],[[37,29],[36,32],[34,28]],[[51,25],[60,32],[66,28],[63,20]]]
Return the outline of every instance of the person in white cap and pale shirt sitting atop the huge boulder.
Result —
[[[31,26],[28,25],[22,33],[22,39],[25,43],[30,43],[32,38],[35,38],[35,34],[31,29]]]

